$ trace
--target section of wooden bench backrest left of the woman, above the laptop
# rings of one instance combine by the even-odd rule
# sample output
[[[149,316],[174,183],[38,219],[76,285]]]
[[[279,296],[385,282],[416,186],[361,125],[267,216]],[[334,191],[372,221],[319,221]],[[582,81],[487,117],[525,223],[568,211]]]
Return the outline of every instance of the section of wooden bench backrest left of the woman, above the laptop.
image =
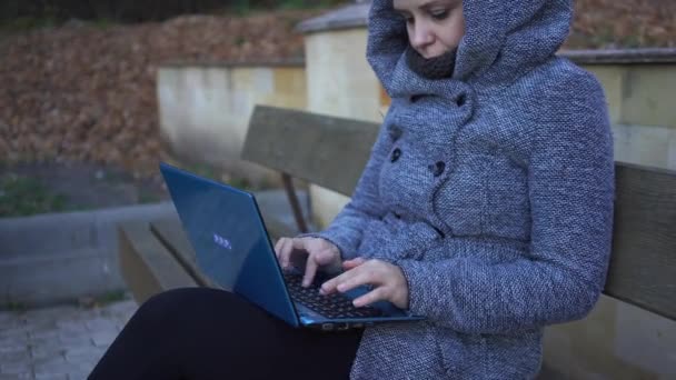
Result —
[[[241,157],[351,196],[379,126],[258,106]]]

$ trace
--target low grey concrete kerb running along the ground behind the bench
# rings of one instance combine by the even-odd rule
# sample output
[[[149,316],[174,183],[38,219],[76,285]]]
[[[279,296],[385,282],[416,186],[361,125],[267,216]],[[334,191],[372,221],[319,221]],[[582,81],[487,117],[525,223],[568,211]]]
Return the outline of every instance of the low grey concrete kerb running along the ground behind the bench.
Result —
[[[268,214],[295,226],[284,190],[255,194]],[[307,217],[307,192],[298,197]],[[0,310],[14,302],[44,307],[126,289],[118,266],[118,223],[163,218],[177,218],[173,203],[0,219]]]

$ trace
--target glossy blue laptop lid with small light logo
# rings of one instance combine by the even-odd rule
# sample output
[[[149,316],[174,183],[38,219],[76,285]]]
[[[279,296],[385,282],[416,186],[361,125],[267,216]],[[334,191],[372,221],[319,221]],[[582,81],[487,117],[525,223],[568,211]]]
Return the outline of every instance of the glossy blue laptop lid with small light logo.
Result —
[[[254,196],[165,162],[160,172],[203,273],[298,327]]]

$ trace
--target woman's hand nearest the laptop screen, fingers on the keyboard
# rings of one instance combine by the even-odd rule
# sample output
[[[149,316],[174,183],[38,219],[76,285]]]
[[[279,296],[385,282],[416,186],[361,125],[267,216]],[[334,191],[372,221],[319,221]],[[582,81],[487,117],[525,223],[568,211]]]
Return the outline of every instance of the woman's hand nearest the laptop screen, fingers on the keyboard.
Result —
[[[292,257],[307,256],[302,286],[312,283],[317,269],[340,270],[340,250],[332,242],[321,238],[281,238],[275,244],[277,260],[281,268],[289,269]]]

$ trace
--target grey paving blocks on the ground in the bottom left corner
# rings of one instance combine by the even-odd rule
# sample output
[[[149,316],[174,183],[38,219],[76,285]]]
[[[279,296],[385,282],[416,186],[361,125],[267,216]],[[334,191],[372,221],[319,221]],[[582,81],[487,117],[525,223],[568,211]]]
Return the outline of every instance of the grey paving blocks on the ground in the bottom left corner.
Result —
[[[0,312],[0,380],[86,379],[136,309],[127,300]]]

